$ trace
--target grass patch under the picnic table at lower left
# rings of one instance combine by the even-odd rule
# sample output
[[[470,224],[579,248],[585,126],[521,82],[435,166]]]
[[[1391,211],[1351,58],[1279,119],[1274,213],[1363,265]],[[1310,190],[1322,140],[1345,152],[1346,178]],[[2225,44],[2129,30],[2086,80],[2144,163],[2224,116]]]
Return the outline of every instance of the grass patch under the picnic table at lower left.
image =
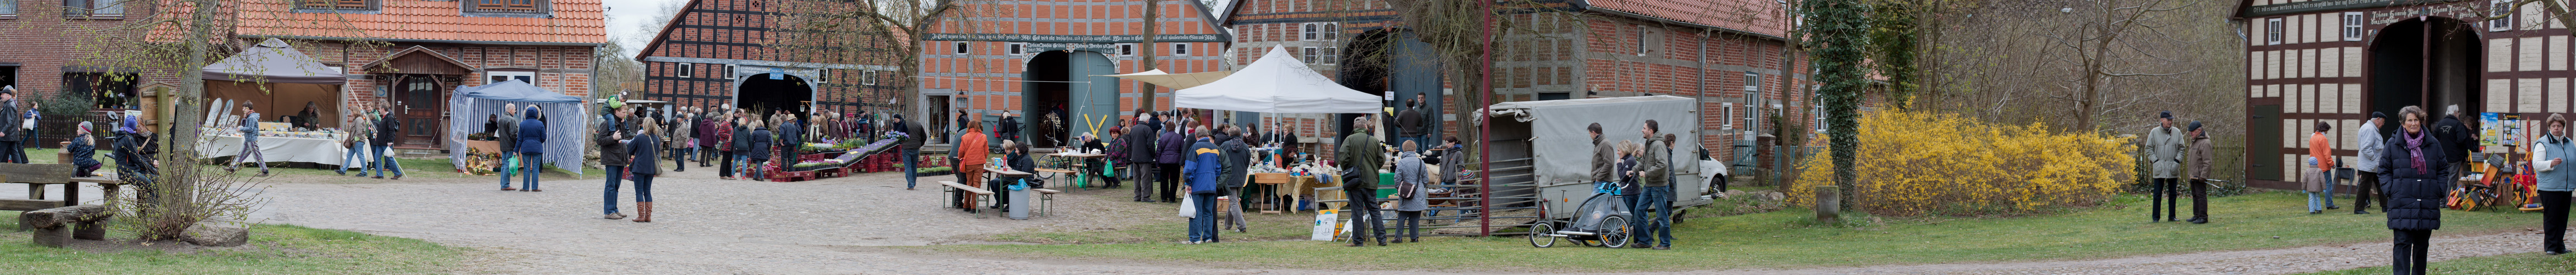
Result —
[[[0,211],[0,221],[18,221],[18,213]],[[273,224],[252,226],[250,244],[242,247],[82,252],[36,247],[26,231],[13,229],[0,229],[0,267],[18,275],[453,272],[456,262],[469,252],[420,239]],[[121,242],[134,236],[108,231],[108,239]],[[188,244],[165,242],[152,247]]]

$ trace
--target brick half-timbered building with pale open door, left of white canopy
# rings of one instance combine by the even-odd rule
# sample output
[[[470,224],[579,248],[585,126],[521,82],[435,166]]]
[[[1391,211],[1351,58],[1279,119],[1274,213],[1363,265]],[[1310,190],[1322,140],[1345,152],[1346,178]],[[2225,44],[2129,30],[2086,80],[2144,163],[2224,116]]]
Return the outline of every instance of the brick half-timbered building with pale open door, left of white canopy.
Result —
[[[933,126],[953,126],[940,121],[958,116],[951,111],[976,121],[1012,113],[1030,121],[1023,141],[1036,141],[1033,146],[1056,146],[1054,139],[1072,134],[1108,134],[1108,126],[1144,108],[1144,90],[1133,80],[1092,75],[1149,69],[1139,54],[1154,54],[1151,69],[1175,75],[1224,69],[1218,54],[1231,36],[1208,5],[1154,3],[1154,44],[1144,44],[1141,0],[956,3],[920,39],[922,105],[914,108],[933,116]],[[1154,108],[1170,111],[1172,87],[1151,93]],[[1061,123],[1038,123],[1059,108]]]

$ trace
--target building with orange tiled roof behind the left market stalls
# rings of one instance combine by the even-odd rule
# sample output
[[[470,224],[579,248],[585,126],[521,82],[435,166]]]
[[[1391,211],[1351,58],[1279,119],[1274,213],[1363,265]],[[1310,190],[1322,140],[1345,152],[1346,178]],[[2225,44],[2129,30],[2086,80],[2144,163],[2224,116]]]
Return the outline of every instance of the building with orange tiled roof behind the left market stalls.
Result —
[[[348,67],[340,111],[399,103],[402,149],[443,152],[459,85],[526,80],[587,98],[608,44],[600,0],[240,0],[234,39],[289,39]],[[350,44],[376,41],[376,44]],[[278,111],[270,111],[278,113]]]

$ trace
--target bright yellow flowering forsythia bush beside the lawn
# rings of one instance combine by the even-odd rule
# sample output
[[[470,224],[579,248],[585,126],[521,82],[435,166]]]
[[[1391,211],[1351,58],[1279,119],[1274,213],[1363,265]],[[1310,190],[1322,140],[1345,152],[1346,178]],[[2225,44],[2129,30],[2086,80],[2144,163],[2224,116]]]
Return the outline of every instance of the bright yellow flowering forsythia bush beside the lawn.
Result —
[[[1821,144],[1821,139],[1816,139]],[[1880,111],[1860,118],[1855,208],[1878,216],[1986,216],[2105,203],[2136,175],[2128,136],[1994,126],[1950,113]],[[1834,185],[1834,157],[1814,152],[1788,193],[1814,206]]]

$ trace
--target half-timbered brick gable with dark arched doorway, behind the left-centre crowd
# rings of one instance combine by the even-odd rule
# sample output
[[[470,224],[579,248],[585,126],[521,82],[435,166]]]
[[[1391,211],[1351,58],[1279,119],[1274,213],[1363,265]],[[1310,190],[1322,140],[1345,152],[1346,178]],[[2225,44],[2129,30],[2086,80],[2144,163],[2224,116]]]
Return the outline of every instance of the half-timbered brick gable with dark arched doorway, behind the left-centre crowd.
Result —
[[[688,0],[644,46],[641,100],[739,105],[750,111],[896,111],[899,54],[886,31],[850,28],[801,36],[793,13],[853,10],[842,0]],[[891,39],[904,41],[904,39]]]

